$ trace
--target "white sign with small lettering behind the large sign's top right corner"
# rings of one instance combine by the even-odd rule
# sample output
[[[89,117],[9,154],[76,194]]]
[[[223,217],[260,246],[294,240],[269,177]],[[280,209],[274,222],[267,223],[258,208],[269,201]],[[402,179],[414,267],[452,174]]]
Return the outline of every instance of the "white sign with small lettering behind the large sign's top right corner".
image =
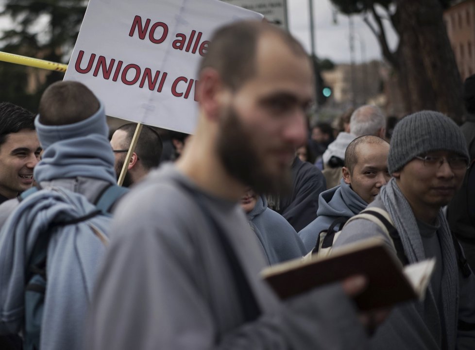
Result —
[[[287,30],[287,0],[221,0],[264,15],[266,19]]]

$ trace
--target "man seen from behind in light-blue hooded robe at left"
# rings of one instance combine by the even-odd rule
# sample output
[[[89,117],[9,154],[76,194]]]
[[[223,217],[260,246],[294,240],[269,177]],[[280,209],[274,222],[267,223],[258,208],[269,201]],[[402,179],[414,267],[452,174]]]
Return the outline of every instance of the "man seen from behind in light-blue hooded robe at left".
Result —
[[[84,245],[85,235],[77,226],[73,227],[74,221],[59,225],[61,229],[48,231],[53,236],[64,228],[73,227],[71,230],[76,230],[74,240],[69,240],[70,236],[66,234],[54,235],[47,240],[40,237],[40,233],[46,232],[43,227],[51,222],[51,217],[54,219],[56,211],[60,212],[57,215],[60,220],[67,221],[71,212],[80,216],[83,209],[87,209],[89,214],[91,207],[92,210],[97,209],[90,203],[95,202],[104,189],[116,182],[114,155],[107,138],[104,106],[82,83],[58,82],[50,85],[40,100],[34,125],[44,149],[41,161],[34,167],[35,180],[45,189],[54,187],[75,192],[77,198],[84,199],[80,203],[84,206],[68,210],[70,206],[65,204],[58,208],[58,205],[52,205],[55,200],[52,195],[38,200],[37,207],[32,205],[25,208],[28,200],[19,205],[17,199],[1,205],[0,334],[17,334],[21,331],[26,349],[35,346],[48,350],[77,350],[81,349],[84,339],[82,326],[93,285],[90,281],[94,280],[105,247]],[[16,220],[17,217],[23,221]],[[33,224],[24,225],[26,220]],[[105,219],[102,221],[105,222]],[[29,227],[23,230],[24,226]],[[97,227],[104,233],[105,228],[105,224]],[[25,301],[25,279],[22,278],[36,267],[32,260],[38,258],[36,250],[41,252],[36,249],[40,246],[38,242],[48,242],[47,265],[44,269],[48,275],[48,290],[41,311],[34,310],[34,316],[37,316],[36,312],[42,314],[39,339],[25,324],[29,309]],[[87,249],[79,250],[78,253],[78,247]],[[78,261],[82,265],[77,264]],[[88,288],[84,288],[84,284]],[[28,319],[32,320],[34,316]],[[33,321],[36,322],[36,319]]]

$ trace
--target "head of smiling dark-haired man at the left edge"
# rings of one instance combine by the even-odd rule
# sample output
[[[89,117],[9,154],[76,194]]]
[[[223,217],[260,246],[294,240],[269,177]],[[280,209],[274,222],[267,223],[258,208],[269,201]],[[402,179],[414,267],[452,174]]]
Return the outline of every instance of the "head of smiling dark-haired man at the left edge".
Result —
[[[13,103],[0,103],[0,203],[33,185],[40,153],[34,115]]]

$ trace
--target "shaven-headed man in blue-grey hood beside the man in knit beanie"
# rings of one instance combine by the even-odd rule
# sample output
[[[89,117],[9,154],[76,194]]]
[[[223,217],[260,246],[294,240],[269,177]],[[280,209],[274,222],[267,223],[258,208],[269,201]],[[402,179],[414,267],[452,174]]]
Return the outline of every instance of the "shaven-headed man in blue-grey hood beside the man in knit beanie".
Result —
[[[312,250],[319,233],[335,220],[349,219],[371,203],[389,179],[389,143],[378,136],[360,136],[345,151],[343,179],[339,186],[322,192],[317,218],[299,232],[305,250]],[[337,224],[338,231],[343,225]]]

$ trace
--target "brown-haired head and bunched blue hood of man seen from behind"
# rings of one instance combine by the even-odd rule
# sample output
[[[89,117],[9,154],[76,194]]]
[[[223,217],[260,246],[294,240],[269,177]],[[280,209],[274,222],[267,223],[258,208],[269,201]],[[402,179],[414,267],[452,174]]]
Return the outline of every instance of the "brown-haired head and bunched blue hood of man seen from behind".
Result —
[[[116,183],[104,106],[84,84],[57,82],[45,90],[38,110],[34,126],[44,152],[34,179],[41,187],[66,188],[94,202]],[[17,205],[17,199],[1,205],[0,228]]]

